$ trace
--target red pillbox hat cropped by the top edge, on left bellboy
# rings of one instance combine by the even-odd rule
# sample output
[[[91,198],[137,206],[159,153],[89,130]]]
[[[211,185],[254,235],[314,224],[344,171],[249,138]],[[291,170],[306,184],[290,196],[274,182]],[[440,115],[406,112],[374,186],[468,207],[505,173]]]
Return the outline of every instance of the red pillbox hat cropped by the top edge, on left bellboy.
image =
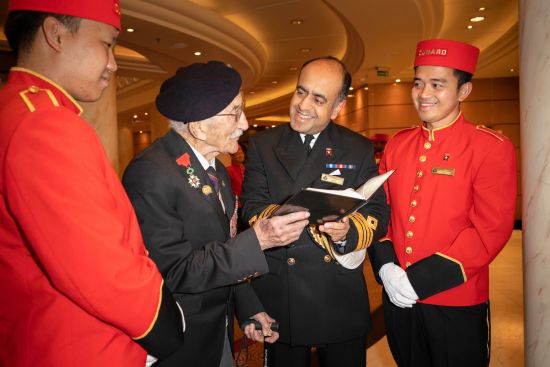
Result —
[[[39,11],[110,24],[120,30],[119,0],[10,0],[8,12]]]

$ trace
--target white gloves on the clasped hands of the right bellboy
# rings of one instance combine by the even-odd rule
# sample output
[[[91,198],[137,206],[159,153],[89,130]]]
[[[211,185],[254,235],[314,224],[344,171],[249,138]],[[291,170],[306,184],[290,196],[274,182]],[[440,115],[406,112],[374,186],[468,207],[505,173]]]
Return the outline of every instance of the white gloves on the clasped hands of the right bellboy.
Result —
[[[405,270],[394,263],[382,265],[378,272],[384,289],[390,298],[390,301],[397,307],[412,307],[416,303],[418,296],[407,277]]]

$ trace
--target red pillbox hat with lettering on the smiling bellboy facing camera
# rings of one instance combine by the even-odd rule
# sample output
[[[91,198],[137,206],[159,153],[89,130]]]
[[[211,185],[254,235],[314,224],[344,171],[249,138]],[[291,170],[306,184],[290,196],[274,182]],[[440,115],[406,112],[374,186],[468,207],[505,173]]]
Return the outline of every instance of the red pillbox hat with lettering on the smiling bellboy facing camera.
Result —
[[[414,66],[445,66],[474,74],[479,48],[450,40],[425,40],[416,45]]]

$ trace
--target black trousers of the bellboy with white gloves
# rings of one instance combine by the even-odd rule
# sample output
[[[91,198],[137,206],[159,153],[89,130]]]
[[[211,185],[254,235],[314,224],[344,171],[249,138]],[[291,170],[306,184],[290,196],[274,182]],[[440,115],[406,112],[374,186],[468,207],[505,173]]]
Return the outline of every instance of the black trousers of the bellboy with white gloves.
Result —
[[[417,303],[400,308],[384,292],[383,309],[388,344],[399,367],[489,365],[489,302],[465,307]]]

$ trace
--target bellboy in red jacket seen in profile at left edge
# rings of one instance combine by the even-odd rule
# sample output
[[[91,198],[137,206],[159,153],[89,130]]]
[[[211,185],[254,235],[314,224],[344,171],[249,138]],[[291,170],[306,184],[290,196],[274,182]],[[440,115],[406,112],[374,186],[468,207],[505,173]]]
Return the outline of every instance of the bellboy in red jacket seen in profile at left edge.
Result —
[[[68,15],[65,16],[65,15]],[[118,1],[13,0],[0,91],[0,365],[144,366],[182,316],[78,101],[116,70]]]

